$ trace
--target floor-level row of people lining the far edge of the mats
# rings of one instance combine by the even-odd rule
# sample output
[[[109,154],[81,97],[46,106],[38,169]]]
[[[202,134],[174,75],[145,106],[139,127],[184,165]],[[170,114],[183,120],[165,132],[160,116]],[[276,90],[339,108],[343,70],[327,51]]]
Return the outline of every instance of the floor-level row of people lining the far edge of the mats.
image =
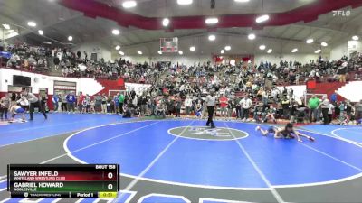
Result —
[[[273,89],[269,95],[262,88],[256,94],[245,93],[232,96],[230,93],[218,93],[215,115],[221,119],[240,119],[243,122],[273,122],[286,120],[291,123],[319,122],[329,125],[349,125],[350,121],[360,122],[362,118],[362,100],[352,104],[348,100],[338,101],[337,95],[328,97],[294,98],[291,89]],[[206,93],[207,94],[207,93]],[[254,97],[255,96],[255,97]],[[17,98],[20,99],[20,98]],[[44,98],[41,98],[45,100]],[[157,90],[147,90],[140,94],[131,90],[114,96],[98,94],[90,97],[70,92],[66,95],[52,96],[54,112],[120,114],[131,116],[186,117],[203,118],[207,115],[205,95],[179,94],[168,95]],[[45,107],[46,109],[46,107]]]

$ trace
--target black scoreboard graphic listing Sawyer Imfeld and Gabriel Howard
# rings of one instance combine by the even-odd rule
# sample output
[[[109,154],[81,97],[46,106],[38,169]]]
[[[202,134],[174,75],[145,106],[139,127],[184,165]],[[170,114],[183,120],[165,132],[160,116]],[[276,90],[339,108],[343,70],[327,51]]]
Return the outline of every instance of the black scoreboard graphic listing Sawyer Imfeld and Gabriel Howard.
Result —
[[[9,164],[12,198],[117,198],[118,164]]]

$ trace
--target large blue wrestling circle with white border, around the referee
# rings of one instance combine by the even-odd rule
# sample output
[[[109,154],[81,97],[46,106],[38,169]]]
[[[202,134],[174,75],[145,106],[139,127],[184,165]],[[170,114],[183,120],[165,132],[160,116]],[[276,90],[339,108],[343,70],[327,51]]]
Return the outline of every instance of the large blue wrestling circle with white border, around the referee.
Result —
[[[362,174],[362,148],[345,139],[302,131],[316,142],[299,143],[262,136],[255,124],[215,125],[209,129],[200,120],[100,125],[72,134],[63,146],[81,163],[119,163],[123,176],[214,189],[322,185]]]

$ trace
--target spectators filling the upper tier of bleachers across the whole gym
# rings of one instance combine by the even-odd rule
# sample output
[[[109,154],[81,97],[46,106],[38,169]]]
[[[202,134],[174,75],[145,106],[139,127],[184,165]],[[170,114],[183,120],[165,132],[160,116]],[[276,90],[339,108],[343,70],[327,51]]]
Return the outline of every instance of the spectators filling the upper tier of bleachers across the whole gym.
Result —
[[[245,85],[245,78],[257,82],[261,78],[266,88],[270,88],[273,82],[280,84],[300,84],[310,78],[317,81],[341,81],[361,79],[362,57],[355,53],[348,60],[343,56],[340,60],[330,61],[319,57],[301,64],[299,61],[283,61],[279,64],[271,64],[268,61],[260,61],[254,65],[241,62],[231,65],[214,65],[210,61],[206,64],[194,64],[193,66],[175,65],[165,63],[147,62],[143,64],[131,63],[128,60],[98,61],[92,60],[86,51],[71,51],[67,48],[45,48],[44,46],[30,46],[26,43],[8,45],[1,51],[2,65],[14,69],[29,71],[60,71],[63,77],[89,77],[89,78],[124,78],[125,81],[154,84],[158,78],[169,70],[177,84],[185,83],[187,79],[195,79],[200,83],[208,76],[218,72],[219,81],[224,84]],[[350,74],[350,73],[353,74]],[[349,74],[348,74],[349,73]],[[242,79],[244,78],[244,79]],[[250,80],[250,79],[248,79]],[[189,81],[189,80],[188,80]],[[239,83],[243,84],[239,84]],[[169,81],[165,81],[165,85]]]

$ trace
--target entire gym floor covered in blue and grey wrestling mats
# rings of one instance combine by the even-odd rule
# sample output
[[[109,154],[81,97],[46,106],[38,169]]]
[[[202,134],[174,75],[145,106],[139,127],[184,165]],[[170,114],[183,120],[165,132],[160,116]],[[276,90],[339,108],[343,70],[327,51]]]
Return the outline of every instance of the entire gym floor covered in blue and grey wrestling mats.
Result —
[[[316,142],[298,143],[262,136],[253,123],[215,125],[62,113],[2,123],[0,202],[112,202],[9,198],[9,163],[119,163],[113,202],[361,202],[362,127],[303,125]]]

